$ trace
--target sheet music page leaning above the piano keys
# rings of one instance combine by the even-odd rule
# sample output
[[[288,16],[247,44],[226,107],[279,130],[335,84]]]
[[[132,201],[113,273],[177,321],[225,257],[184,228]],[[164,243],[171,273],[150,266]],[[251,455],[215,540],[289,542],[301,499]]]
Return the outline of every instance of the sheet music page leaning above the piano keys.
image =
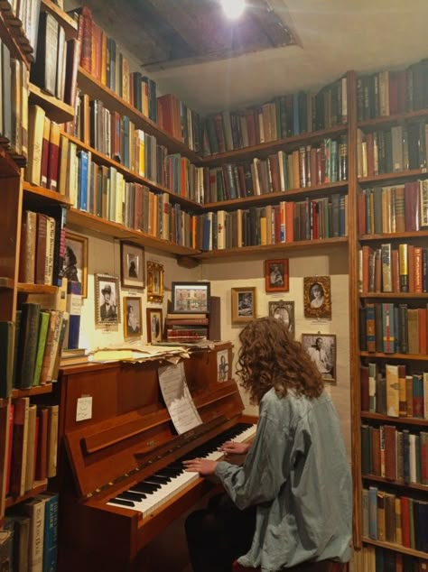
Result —
[[[202,420],[191,398],[184,364],[164,365],[158,368],[158,374],[163,400],[177,433],[180,435],[200,425]]]

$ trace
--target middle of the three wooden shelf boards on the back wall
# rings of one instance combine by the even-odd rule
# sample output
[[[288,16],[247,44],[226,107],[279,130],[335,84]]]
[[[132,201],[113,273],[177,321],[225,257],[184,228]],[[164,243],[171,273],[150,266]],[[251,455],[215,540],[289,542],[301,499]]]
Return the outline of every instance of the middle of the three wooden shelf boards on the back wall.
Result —
[[[323,185],[314,185],[313,187],[304,187],[301,189],[287,189],[284,192],[276,193],[265,193],[264,195],[254,195],[245,198],[232,198],[229,200],[221,200],[214,203],[205,203],[202,205],[204,210],[206,209],[218,209],[224,207],[238,207],[243,208],[247,205],[270,205],[280,200],[287,200],[291,197],[326,197],[330,194],[337,193],[339,191],[344,191],[348,188],[348,181],[340,180],[336,183],[324,183]]]

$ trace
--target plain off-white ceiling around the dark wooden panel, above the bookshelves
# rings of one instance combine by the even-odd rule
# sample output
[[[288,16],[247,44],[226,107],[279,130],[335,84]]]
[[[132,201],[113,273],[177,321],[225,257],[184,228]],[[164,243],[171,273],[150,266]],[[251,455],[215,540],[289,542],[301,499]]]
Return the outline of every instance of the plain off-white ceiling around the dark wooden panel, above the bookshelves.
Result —
[[[279,0],[284,5],[284,0]],[[152,72],[172,92],[208,112],[319,88],[349,69],[390,69],[428,57],[428,0],[285,0],[302,47]]]

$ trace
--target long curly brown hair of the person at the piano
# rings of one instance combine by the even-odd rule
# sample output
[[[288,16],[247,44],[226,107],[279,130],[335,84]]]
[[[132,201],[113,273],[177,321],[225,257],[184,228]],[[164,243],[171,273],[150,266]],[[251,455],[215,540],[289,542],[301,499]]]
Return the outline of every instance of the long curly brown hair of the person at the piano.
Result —
[[[320,372],[282,320],[255,319],[241,331],[239,341],[237,375],[252,403],[259,403],[272,387],[281,397],[291,388],[309,398],[321,395]]]

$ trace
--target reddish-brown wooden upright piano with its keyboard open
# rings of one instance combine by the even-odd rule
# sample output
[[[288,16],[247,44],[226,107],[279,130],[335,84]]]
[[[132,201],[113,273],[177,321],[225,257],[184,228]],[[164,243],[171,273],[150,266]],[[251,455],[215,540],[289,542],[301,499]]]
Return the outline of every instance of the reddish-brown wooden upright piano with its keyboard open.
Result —
[[[59,572],[149,569],[144,547],[219,487],[183,472],[181,463],[184,457],[219,458],[222,442],[247,440],[256,431],[256,419],[243,415],[237,383],[217,381],[217,353],[225,349],[231,364],[230,344],[184,360],[202,424],[181,435],[158,382],[164,361],[61,371]]]

